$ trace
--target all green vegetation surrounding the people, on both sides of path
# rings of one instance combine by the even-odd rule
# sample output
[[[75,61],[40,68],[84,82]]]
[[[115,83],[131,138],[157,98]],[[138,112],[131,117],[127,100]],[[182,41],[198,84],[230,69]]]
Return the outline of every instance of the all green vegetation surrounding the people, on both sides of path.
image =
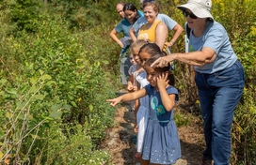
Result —
[[[8,154],[13,164],[110,164],[100,143],[114,123],[105,99],[119,88],[120,48],[108,37],[119,21],[117,2],[1,0],[1,164]],[[184,24],[175,8],[184,2],[159,2],[161,12]],[[232,164],[256,162],[254,8],[254,0],[214,1],[213,15],[227,28],[247,81],[233,121]],[[172,52],[184,52],[183,37]],[[189,69],[176,66],[188,98]],[[190,120],[183,116],[177,114],[179,125]]]

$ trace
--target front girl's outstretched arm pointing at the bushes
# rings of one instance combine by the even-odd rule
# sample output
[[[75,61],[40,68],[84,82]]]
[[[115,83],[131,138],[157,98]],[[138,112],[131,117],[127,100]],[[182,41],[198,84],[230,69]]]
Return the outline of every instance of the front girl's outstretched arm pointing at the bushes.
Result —
[[[106,99],[106,101],[110,102],[110,105],[114,107],[115,105],[117,105],[120,102],[132,101],[132,100],[135,100],[138,98],[145,97],[146,95],[147,95],[146,89],[143,88],[136,92],[122,95],[118,98]]]

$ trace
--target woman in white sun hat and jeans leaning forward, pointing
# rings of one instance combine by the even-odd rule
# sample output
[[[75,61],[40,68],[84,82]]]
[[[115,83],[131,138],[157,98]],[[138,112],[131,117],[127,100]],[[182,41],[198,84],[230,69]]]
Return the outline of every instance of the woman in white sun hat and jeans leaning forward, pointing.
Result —
[[[229,165],[232,118],[245,86],[244,69],[225,28],[210,13],[211,0],[189,0],[178,8],[191,29],[189,50],[161,57],[152,66],[164,67],[173,60],[194,66],[206,143],[202,164]]]

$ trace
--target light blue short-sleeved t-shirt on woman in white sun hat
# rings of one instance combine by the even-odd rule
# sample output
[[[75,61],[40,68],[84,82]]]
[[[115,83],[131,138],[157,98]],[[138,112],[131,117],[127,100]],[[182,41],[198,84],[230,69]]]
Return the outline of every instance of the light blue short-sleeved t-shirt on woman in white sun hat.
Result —
[[[203,35],[195,37],[193,29],[190,31],[188,51],[201,51],[203,47],[211,48],[216,52],[216,59],[212,63],[202,67],[195,66],[195,70],[200,73],[215,73],[232,65],[237,60],[236,54],[232,50],[232,44],[225,28],[217,22],[208,22]]]

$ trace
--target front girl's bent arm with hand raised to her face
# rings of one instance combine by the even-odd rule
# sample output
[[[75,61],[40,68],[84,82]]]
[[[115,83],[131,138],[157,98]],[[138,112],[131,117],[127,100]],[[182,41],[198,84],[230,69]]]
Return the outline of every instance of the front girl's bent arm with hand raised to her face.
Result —
[[[175,94],[168,95],[167,92],[168,86],[168,73],[162,73],[157,78],[157,87],[160,92],[162,103],[166,111],[170,112],[175,106]]]

